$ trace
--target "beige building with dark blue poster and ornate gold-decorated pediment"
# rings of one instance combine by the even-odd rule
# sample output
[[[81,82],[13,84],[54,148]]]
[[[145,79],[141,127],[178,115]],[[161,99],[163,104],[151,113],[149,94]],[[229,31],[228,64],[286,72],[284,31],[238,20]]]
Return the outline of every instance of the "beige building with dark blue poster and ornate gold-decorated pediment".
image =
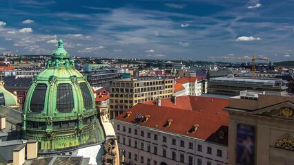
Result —
[[[283,92],[242,91],[228,111],[228,164],[293,164],[294,98]]]

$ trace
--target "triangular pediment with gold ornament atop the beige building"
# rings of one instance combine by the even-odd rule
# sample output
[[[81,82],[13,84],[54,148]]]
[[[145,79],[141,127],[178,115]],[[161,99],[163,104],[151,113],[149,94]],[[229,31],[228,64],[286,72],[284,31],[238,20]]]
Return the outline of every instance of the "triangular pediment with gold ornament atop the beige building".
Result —
[[[263,109],[254,111],[255,115],[264,115],[271,118],[284,118],[294,120],[294,104],[293,102],[282,102]]]

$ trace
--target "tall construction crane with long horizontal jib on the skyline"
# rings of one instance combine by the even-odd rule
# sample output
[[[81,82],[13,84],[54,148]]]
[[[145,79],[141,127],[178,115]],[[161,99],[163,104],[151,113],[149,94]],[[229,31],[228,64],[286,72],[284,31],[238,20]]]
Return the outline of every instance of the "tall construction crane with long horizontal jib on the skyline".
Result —
[[[210,56],[208,58],[213,58],[213,59],[234,59],[234,60],[251,60],[252,61],[252,76],[255,77],[255,67],[256,67],[256,61],[257,60],[263,60],[263,61],[268,61],[269,59],[264,56],[256,56],[254,54],[253,57],[251,56],[244,56],[244,57],[238,57],[238,56]]]

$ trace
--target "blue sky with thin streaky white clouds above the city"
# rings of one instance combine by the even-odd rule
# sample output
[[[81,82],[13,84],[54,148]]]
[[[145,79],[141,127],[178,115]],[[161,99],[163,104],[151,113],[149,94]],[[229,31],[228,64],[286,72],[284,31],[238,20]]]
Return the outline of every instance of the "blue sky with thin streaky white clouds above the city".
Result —
[[[87,0],[0,2],[0,53],[294,60],[294,1]],[[223,60],[231,61],[231,60]],[[235,61],[235,60],[234,60]]]

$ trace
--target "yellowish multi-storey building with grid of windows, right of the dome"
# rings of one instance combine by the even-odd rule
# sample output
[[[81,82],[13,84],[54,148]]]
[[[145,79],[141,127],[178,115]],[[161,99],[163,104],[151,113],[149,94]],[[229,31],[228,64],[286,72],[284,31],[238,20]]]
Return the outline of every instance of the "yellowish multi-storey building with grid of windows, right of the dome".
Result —
[[[112,81],[110,88],[110,118],[133,107],[139,102],[170,98],[173,96],[173,79],[137,77]]]

